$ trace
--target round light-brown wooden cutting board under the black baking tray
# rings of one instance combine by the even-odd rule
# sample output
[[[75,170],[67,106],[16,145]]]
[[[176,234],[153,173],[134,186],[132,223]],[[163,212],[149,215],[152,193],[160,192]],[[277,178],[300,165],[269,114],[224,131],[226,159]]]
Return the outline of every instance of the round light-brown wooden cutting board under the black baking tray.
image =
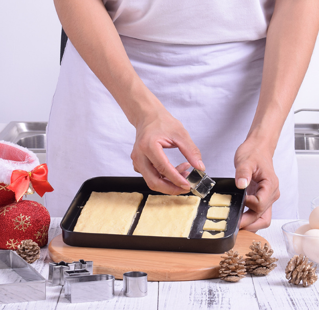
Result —
[[[245,257],[254,240],[269,245],[263,237],[240,230],[234,251]],[[54,262],[93,260],[94,274],[111,274],[116,279],[123,279],[128,271],[143,271],[149,281],[189,281],[218,278],[222,254],[71,247],[58,235],[50,242],[49,255]]]

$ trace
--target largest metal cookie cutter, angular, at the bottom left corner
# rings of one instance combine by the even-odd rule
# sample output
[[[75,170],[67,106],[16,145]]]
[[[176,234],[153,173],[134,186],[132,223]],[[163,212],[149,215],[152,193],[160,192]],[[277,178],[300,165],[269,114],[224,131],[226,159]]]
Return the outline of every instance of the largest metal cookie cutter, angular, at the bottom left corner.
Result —
[[[0,304],[45,300],[45,283],[45,278],[14,251],[0,251]]]

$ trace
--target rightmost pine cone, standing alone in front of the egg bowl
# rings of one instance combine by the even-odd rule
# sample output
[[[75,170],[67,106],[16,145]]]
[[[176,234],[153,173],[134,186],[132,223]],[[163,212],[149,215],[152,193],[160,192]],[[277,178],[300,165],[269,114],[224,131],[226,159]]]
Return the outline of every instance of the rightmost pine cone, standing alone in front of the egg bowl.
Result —
[[[288,262],[285,273],[289,283],[299,284],[303,282],[303,286],[313,284],[318,276],[316,275],[316,267],[313,267],[313,262],[308,263],[308,257],[302,254],[294,255]]]

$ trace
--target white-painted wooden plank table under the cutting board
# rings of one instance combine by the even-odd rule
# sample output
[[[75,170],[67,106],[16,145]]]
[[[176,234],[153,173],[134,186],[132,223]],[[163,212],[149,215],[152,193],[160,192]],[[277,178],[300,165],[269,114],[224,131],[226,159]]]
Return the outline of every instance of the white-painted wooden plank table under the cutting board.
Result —
[[[61,218],[52,218],[49,242],[61,233]],[[250,274],[237,283],[220,279],[184,282],[148,282],[148,296],[128,298],[123,295],[123,281],[115,281],[115,298],[109,301],[90,303],[70,303],[64,298],[61,286],[47,285],[47,300],[0,305],[12,310],[50,309],[119,309],[119,310],[188,310],[188,309],[319,309],[319,281],[308,287],[289,284],[285,278],[285,268],[290,257],[285,248],[281,226],[289,220],[272,220],[271,226],[260,230],[279,260],[277,268],[268,276],[256,277]],[[256,240],[258,241],[258,240]],[[247,252],[248,253],[248,252]],[[32,266],[43,277],[48,278],[48,246],[41,248],[41,257]],[[17,292],[18,294],[18,292]]]

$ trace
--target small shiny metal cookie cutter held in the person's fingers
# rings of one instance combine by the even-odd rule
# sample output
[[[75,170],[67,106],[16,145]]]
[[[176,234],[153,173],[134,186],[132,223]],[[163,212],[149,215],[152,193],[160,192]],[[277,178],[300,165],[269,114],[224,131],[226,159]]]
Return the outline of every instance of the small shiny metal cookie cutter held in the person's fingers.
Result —
[[[205,198],[216,184],[216,182],[212,180],[205,172],[195,168],[187,176],[186,180],[191,185],[191,192],[200,198]]]

